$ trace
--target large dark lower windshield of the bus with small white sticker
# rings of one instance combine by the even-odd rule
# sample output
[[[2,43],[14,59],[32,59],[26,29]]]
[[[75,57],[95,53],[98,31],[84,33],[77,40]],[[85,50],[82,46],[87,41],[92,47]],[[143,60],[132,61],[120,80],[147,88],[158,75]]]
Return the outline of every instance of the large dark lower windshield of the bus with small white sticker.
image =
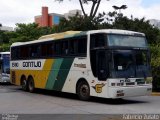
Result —
[[[117,50],[113,52],[114,77],[150,76],[149,56],[147,51]]]

